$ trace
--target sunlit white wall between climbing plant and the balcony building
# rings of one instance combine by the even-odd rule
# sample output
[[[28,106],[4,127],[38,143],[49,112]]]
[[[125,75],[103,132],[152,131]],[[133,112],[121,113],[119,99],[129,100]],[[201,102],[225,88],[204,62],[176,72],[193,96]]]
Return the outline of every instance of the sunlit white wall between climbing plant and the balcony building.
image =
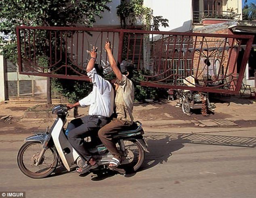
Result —
[[[192,28],[192,0],[144,0],[154,16],[169,20],[169,27],[160,31],[189,31]]]

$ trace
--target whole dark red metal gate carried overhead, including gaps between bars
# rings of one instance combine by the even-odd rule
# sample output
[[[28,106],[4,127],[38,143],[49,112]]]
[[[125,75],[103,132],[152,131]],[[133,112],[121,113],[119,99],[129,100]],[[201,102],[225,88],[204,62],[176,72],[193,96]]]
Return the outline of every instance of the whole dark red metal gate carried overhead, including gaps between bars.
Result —
[[[118,63],[130,61],[141,85],[229,94],[239,93],[253,41],[250,35],[25,26],[17,27],[17,38],[21,74],[88,80],[86,50],[92,46],[109,74],[104,49],[109,38]],[[237,64],[237,83],[227,89],[232,81],[224,79],[237,75]]]

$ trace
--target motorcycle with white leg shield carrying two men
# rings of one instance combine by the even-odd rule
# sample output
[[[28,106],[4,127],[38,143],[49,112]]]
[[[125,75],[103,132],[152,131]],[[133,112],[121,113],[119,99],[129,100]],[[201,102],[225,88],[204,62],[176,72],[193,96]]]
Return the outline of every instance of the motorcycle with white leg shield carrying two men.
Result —
[[[67,122],[68,108],[62,104],[52,109],[57,118],[44,133],[36,133],[24,141],[19,149],[17,162],[22,173],[31,178],[44,178],[53,173],[58,165],[63,165],[67,171],[74,167],[82,167],[84,160],[71,146],[65,134],[64,125]],[[123,152],[121,165],[115,170],[119,173],[137,171],[145,158],[147,143],[143,138],[143,128],[139,121],[134,122],[133,128],[120,131],[113,135],[118,150]],[[84,139],[89,152],[96,158],[98,167],[94,171],[106,171],[112,154],[101,143],[97,133],[90,134]]]

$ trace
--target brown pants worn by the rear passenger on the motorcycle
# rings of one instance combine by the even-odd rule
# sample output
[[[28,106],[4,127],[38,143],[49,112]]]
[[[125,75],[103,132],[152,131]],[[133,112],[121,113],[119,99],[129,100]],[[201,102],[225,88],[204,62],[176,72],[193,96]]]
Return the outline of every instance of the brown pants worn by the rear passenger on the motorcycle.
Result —
[[[103,126],[98,133],[101,142],[107,147],[109,152],[120,159],[122,154],[117,150],[115,142],[112,141],[112,135],[124,130],[124,127],[128,126],[130,126],[130,123],[125,120],[113,119],[113,121]]]

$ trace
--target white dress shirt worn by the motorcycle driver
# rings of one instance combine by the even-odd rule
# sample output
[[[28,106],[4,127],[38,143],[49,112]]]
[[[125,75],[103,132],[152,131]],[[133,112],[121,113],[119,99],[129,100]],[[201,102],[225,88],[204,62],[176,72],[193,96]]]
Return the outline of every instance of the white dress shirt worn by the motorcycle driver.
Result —
[[[110,117],[114,108],[114,90],[109,81],[103,79],[93,68],[87,73],[92,79],[92,92],[82,100],[79,100],[81,106],[90,105],[89,115],[101,115]]]

